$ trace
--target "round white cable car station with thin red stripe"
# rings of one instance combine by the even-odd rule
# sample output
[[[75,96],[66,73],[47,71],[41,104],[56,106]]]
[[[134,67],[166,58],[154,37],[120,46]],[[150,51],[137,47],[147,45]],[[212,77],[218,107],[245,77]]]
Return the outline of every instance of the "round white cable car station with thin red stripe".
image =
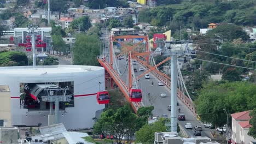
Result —
[[[93,118],[99,118],[104,109],[96,99],[105,88],[104,81],[102,67],[1,67],[0,86],[9,92],[0,91],[0,120],[7,127],[45,126],[53,124],[57,115],[67,129],[92,128]]]

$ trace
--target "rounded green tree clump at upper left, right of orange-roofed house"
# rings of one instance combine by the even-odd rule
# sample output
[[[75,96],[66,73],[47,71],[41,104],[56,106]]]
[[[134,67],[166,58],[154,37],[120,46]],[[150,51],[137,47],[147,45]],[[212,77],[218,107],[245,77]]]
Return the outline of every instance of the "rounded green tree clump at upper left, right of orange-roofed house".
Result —
[[[74,19],[71,23],[70,23],[70,27],[72,27],[72,29],[79,29],[79,25],[80,25],[80,31],[86,31],[89,29],[89,27],[91,27],[91,22],[89,19],[89,16],[83,16],[80,17],[78,19]]]

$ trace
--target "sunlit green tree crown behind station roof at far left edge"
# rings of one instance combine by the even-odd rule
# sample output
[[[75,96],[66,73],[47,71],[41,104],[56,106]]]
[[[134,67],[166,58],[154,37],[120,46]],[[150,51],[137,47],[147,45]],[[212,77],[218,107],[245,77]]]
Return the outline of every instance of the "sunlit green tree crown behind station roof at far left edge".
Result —
[[[8,51],[0,53],[0,66],[21,66],[27,65],[27,56],[23,52]]]

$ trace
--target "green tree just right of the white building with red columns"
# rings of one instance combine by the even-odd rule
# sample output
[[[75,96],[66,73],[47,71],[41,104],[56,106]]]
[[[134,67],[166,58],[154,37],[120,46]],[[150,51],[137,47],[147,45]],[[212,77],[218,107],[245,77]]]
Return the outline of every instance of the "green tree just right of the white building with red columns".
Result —
[[[54,54],[54,51],[57,52],[57,55],[58,53],[60,53],[61,55],[61,52],[66,52],[66,44],[65,44],[65,41],[62,39],[61,35],[52,35],[52,39],[53,39],[53,54]]]

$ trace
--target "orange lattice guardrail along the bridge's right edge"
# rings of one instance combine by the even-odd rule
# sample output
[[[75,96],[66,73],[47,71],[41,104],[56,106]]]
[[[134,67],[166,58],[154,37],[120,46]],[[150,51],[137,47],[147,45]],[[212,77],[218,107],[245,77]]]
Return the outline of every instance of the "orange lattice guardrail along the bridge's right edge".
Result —
[[[140,64],[142,64],[144,67],[148,68],[146,65],[143,64],[143,62],[138,61]],[[148,68],[149,69],[149,68]],[[159,75],[158,73],[155,73],[155,71],[150,71],[156,78],[158,78],[160,81],[164,82],[165,85],[171,89],[171,81],[167,79],[166,77]],[[193,114],[196,116],[196,109],[193,104],[193,101],[191,101],[184,93],[182,93],[177,88],[177,97],[188,107],[188,109],[193,112]]]

